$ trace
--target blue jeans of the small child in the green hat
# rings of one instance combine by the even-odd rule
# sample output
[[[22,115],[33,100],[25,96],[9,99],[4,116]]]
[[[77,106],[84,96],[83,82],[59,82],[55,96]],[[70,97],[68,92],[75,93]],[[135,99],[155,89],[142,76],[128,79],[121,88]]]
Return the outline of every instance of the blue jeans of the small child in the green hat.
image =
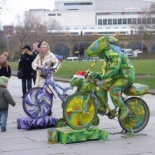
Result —
[[[0,110],[1,129],[6,129],[8,110]]]

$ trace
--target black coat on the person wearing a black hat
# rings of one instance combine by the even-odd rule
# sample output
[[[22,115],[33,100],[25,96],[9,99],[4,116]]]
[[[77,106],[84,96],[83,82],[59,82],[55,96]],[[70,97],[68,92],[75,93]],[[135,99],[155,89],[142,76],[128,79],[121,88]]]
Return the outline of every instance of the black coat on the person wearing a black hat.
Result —
[[[32,78],[33,75],[33,69],[32,69],[32,62],[34,60],[34,56],[31,52],[31,54],[22,54],[20,61],[19,61],[19,65],[18,65],[18,70],[22,70],[23,71],[23,78],[25,79],[30,79]]]

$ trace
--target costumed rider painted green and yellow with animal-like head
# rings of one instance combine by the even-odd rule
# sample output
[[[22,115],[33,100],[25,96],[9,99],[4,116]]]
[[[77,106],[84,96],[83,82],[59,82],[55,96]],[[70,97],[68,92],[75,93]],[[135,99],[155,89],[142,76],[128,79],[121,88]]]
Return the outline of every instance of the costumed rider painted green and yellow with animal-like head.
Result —
[[[120,51],[117,43],[118,39],[115,37],[103,36],[88,47],[87,55],[98,56],[105,60],[105,73],[92,73],[91,76],[102,80],[101,87],[105,102],[107,102],[107,91],[109,91],[115,107],[121,109],[119,119],[123,120],[129,113],[129,109],[124,104],[121,91],[133,83],[135,70],[126,54]]]

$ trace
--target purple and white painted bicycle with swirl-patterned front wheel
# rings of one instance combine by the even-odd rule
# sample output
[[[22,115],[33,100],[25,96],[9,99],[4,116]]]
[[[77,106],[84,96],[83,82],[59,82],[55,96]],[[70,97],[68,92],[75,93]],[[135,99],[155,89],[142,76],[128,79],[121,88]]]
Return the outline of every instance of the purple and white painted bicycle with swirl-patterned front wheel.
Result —
[[[54,80],[51,80],[53,71],[56,68],[47,70],[45,70],[45,68],[44,71],[47,72],[48,76],[43,87],[34,87],[30,89],[25,94],[22,102],[25,113],[33,119],[44,117],[49,113],[53,104],[53,96],[56,98],[54,92],[62,101],[63,105],[68,97],[67,91],[73,89],[71,86],[63,88]],[[60,93],[59,89],[62,93]]]

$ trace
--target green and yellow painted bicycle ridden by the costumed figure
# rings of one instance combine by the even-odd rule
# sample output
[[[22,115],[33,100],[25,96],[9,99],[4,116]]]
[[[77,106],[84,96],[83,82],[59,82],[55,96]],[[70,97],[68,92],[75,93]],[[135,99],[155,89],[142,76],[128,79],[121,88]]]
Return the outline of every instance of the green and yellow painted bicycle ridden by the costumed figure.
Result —
[[[122,98],[130,112],[124,120],[119,120],[120,109],[112,110],[108,103],[104,103],[102,88],[96,79],[90,77],[93,65],[87,72],[83,72],[84,78],[71,79],[71,86],[76,86],[77,92],[65,101],[63,117],[66,123],[74,129],[89,128],[99,124],[97,114],[101,114],[107,115],[109,119],[117,117],[125,132],[138,133],[143,130],[149,121],[150,112],[141,96],[147,93],[149,87],[133,83],[122,92]],[[102,111],[99,110],[101,105],[104,107]]]

